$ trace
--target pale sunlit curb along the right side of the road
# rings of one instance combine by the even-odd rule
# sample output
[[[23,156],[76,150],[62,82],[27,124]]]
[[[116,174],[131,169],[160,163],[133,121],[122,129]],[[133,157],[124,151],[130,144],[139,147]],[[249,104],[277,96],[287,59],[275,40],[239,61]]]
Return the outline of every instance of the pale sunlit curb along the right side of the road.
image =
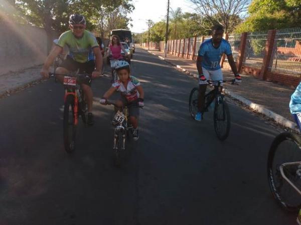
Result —
[[[148,50],[147,50],[148,51]],[[177,65],[171,61],[169,61],[168,59],[162,57],[161,55],[157,55],[153,52],[148,51],[149,53],[152,53],[156,56],[158,56],[160,59],[165,60],[166,62],[172,64],[173,66],[175,66],[177,69],[185,72],[186,74],[192,76],[193,78],[197,79],[198,78],[198,74],[195,74],[193,72],[190,72],[188,69],[183,68],[181,65]],[[283,117],[282,115],[279,115],[267,108],[265,108],[263,105],[261,104],[257,104],[239,94],[233,93],[230,90],[225,90],[225,93],[228,94],[229,96],[241,101],[243,104],[247,105],[249,108],[253,109],[254,111],[257,111],[259,113],[262,113],[264,115],[266,115],[269,118],[272,118],[273,120],[275,120],[275,122],[279,123],[280,125],[283,125],[285,127],[288,127],[298,133],[300,133],[299,129],[297,128],[297,124],[295,122],[292,122],[290,120],[288,120],[287,118]]]

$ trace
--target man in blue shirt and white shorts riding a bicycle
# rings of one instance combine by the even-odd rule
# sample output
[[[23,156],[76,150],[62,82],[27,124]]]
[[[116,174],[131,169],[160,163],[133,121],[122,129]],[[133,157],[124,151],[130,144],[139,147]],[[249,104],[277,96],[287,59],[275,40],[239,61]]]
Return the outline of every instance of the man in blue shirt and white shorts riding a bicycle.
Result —
[[[220,61],[223,53],[227,55],[228,62],[235,75],[235,81],[241,82],[241,77],[237,72],[237,68],[232,56],[231,46],[229,42],[223,39],[224,27],[220,24],[213,26],[212,38],[204,41],[199,49],[197,68],[199,71],[199,98],[198,112],[195,119],[201,121],[203,119],[205,92],[207,88],[207,79],[222,80],[223,73]]]

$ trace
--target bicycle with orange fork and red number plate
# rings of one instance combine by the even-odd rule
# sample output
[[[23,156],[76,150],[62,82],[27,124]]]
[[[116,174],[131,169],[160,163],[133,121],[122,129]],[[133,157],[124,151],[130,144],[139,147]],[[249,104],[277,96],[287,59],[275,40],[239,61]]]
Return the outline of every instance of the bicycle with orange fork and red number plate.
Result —
[[[78,125],[78,118],[81,116],[83,122],[86,124],[87,104],[85,101],[84,91],[82,90],[78,81],[88,79],[91,82],[89,74],[57,74],[49,73],[50,77],[55,75],[64,76],[64,117],[63,117],[63,133],[65,150],[71,153],[75,149],[76,130]]]

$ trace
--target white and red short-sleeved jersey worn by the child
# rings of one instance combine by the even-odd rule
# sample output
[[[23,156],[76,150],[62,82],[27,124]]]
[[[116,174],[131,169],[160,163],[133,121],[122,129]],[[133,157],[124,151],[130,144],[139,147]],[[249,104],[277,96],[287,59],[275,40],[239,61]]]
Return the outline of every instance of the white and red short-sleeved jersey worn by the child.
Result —
[[[126,88],[120,80],[117,80],[112,84],[113,87],[117,88],[117,91],[121,92],[121,95],[124,96],[127,99],[127,101],[133,101],[139,97],[139,93],[137,91],[137,86],[139,85],[140,81],[134,76],[128,77],[128,83]]]

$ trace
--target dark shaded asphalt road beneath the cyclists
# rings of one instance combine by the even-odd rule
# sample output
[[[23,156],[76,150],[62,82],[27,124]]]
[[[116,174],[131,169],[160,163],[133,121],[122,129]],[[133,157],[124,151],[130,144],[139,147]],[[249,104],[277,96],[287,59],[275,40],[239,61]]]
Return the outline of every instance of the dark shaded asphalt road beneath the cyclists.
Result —
[[[195,80],[142,49],[132,74],[145,107],[121,168],[112,163],[113,108],[98,103],[108,77],[93,81],[95,124],[80,124],[71,155],[60,84],[48,80],[0,99],[1,225],[295,224],[269,193],[271,125],[230,103],[230,135],[221,142],[209,113],[202,122],[189,115]]]

